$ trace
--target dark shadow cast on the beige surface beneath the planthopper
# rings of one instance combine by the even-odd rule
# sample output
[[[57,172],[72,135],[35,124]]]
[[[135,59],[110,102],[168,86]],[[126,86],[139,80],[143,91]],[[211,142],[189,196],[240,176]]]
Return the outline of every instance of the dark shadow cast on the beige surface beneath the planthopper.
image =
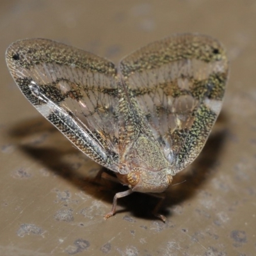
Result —
[[[161,213],[166,217],[172,215],[173,206],[192,198],[205,180],[210,179],[212,173],[218,170],[220,164],[218,156],[227,137],[226,121],[226,116],[221,113],[216,122],[216,127],[221,128],[211,133],[200,156],[186,170],[173,177],[173,183],[166,190],[166,198],[161,207]],[[94,177],[97,175],[97,170],[100,170],[100,165],[74,148],[44,118],[33,118],[16,124],[9,135],[22,152],[44,164],[45,168],[55,175],[67,179],[84,193],[89,193],[96,200],[108,202],[109,209],[115,193],[127,190],[127,186],[109,180],[102,179],[100,184],[95,184]],[[116,214],[131,212],[136,217],[156,220],[151,211],[158,200],[159,198],[154,196],[132,193],[118,200]]]

